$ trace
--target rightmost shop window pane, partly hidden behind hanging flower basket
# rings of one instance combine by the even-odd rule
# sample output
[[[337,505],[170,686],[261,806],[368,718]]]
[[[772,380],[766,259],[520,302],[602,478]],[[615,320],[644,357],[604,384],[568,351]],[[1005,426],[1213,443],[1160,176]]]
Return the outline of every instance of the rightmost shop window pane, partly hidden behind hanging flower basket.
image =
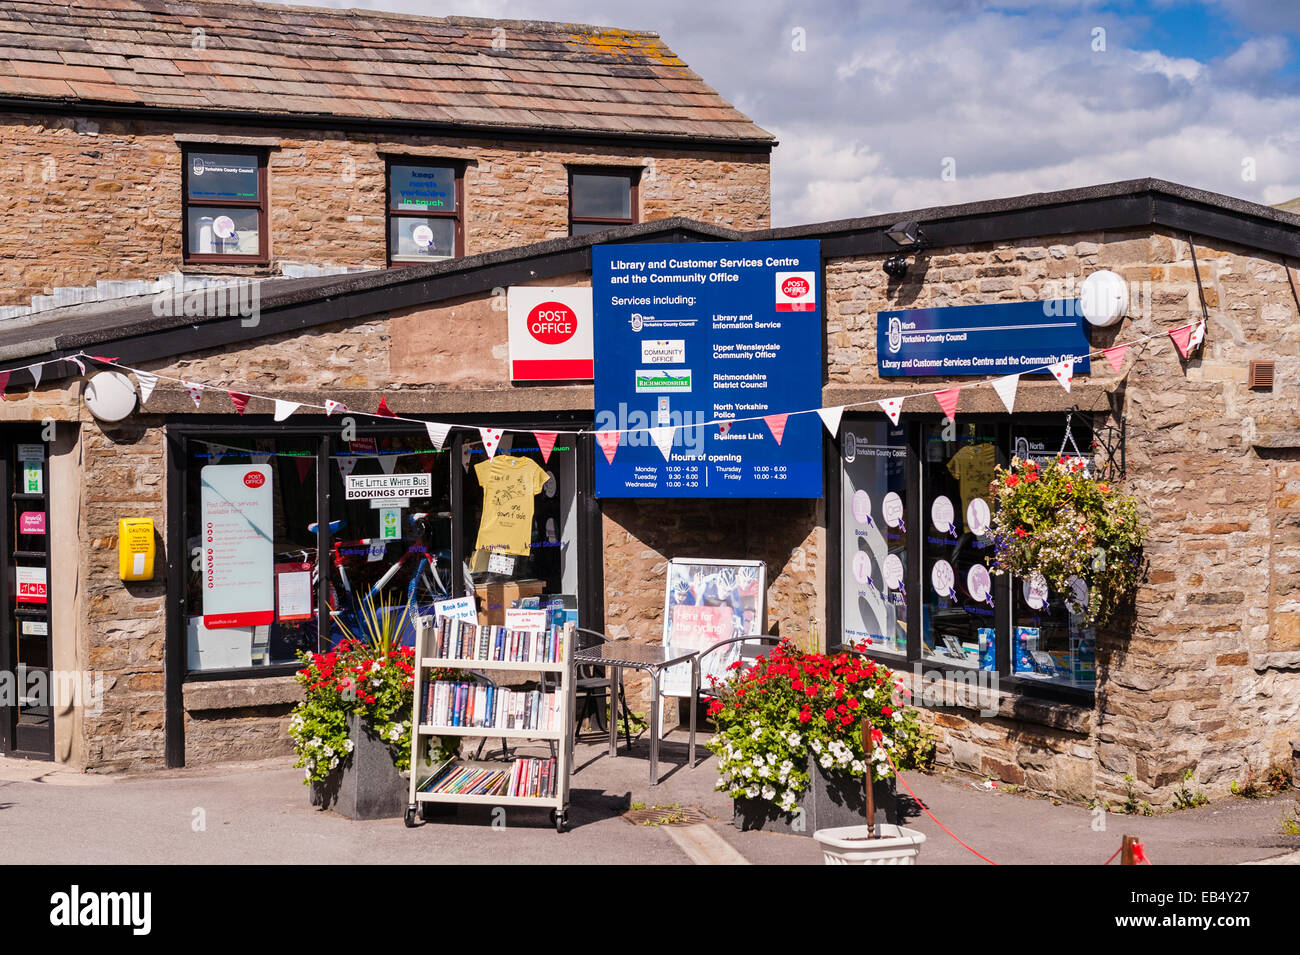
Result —
[[[1091,446],[1091,433],[1078,433],[1080,448]],[[1061,450],[1060,426],[1014,425],[1011,452],[1020,460],[1045,464]],[[1066,448],[1066,453],[1072,453]],[[1043,578],[1011,581],[1011,673],[1017,678],[1041,680],[1092,689],[1097,680],[1096,631],[1079,615],[1087,587],[1058,594]]]

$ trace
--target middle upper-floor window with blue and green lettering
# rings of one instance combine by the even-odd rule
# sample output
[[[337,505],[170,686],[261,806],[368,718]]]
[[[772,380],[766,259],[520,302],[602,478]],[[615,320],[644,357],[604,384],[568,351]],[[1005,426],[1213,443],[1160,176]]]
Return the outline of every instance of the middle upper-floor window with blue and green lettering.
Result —
[[[464,255],[463,166],[389,162],[389,264]]]

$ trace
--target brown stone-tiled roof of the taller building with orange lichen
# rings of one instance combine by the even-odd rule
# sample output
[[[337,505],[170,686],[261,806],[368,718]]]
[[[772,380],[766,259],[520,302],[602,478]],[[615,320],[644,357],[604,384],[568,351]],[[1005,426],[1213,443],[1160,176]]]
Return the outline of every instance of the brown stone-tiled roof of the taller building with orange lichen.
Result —
[[[0,0],[0,100],[774,142],[654,32],[228,0]]]

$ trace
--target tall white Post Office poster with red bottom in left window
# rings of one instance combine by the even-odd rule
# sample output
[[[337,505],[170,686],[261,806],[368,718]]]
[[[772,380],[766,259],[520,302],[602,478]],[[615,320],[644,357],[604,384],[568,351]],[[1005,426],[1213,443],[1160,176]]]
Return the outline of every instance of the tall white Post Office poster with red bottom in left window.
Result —
[[[270,624],[276,616],[270,466],[209,464],[200,482],[203,626]]]

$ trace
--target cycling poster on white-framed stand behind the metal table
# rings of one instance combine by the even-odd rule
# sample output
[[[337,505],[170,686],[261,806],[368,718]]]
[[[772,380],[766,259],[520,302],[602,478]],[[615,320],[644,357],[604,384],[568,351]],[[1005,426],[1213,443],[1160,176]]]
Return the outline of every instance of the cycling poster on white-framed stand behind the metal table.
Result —
[[[758,637],[767,629],[767,565],[760,560],[675,557],[668,561],[663,611],[663,644],[707,650],[733,637]],[[708,677],[724,680],[740,659],[740,643],[723,647],[701,660],[699,686]],[[664,670],[664,696],[690,695],[690,664]]]

